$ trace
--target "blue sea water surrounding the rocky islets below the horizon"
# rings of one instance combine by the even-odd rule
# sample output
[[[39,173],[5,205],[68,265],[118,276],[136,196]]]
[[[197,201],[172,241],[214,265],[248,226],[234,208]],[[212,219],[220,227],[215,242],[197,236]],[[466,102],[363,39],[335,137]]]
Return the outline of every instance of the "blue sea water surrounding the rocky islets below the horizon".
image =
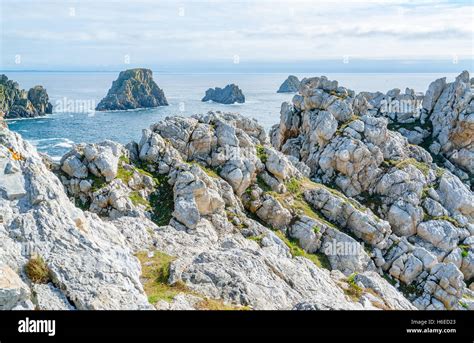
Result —
[[[154,109],[94,112],[105,96],[116,72],[7,72],[21,88],[41,84],[46,87],[54,106],[48,117],[9,121],[9,127],[37,146],[41,152],[58,159],[74,143],[95,143],[111,139],[123,144],[139,141],[141,131],[171,115],[190,116],[210,110],[238,112],[257,119],[266,129],[278,123],[280,106],[293,94],[276,90],[288,74],[163,74],[154,79],[164,90],[170,106]],[[296,74],[298,77],[319,76]],[[456,74],[326,74],[330,79],[356,92],[383,91],[398,87],[425,92],[431,81],[446,76],[452,81]],[[244,104],[221,105],[203,103],[201,98],[210,87],[235,83],[243,90]]]

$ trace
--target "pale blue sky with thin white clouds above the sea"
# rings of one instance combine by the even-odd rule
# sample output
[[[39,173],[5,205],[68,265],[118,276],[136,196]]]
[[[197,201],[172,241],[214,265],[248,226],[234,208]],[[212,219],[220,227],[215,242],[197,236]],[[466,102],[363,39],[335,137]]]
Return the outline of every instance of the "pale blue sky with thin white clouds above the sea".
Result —
[[[0,0],[0,69],[472,70],[473,1]]]

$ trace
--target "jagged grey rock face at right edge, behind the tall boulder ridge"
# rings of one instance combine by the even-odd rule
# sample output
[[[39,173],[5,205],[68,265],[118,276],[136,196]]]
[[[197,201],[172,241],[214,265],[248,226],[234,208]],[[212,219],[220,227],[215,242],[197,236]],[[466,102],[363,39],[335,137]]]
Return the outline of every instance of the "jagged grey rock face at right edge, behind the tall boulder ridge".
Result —
[[[362,92],[355,101],[366,113],[387,118],[391,130],[424,147],[440,166],[472,188],[472,99],[469,73],[464,71],[452,83],[446,78],[433,81],[424,96],[409,88],[404,94],[393,89],[387,94]]]

